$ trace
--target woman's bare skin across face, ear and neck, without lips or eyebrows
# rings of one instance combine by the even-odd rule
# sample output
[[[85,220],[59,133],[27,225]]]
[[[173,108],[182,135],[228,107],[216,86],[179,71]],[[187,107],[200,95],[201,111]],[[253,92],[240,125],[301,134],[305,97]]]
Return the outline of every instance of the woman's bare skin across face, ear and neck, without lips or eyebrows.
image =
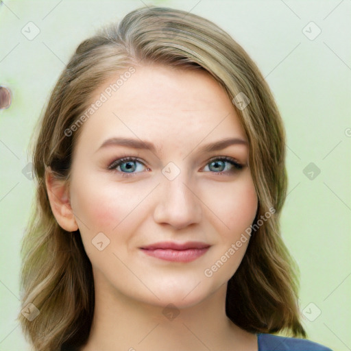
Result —
[[[116,77],[97,89],[93,101],[112,82]],[[81,350],[257,351],[256,335],[225,312],[228,280],[249,241],[211,277],[204,274],[250,227],[258,206],[247,145],[200,150],[221,138],[247,141],[223,88],[206,72],[136,66],[80,128],[70,182],[53,179],[49,169],[46,182],[58,223],[70,232],[79,228],[93,265],[95,315]],[[117,136],[154,143],[156,152],[99,148]],[[129,178],[122,175],[130,174],[126,163],[108,169],[125,156],[143,162],[132,164]],[[243,169],[220,160],[216,168],[210,161],[217,156],[232,157]],[[162,173],[169,162],[180,171],[173,180]],[[99,232],[110,240],[101,251],[92,243]],[[140,249],[158,241],[211,246],[195,261],[175,263]],[[170,303],[172,319],[165,315]]]

